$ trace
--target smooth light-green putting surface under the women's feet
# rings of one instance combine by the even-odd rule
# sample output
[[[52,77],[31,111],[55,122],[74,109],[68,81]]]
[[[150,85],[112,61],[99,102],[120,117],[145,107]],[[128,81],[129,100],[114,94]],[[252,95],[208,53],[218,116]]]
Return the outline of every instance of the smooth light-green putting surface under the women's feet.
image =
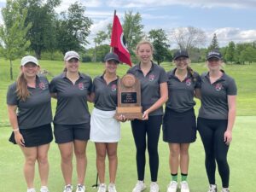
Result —
[[[237,117],[236,126],[233,133],[233,142],[230,145],[230,191],[232,192],[253,192],[253,181],[255,168],[256,151],[255,136],[256,119],[255,117]],[[0,134],[0,185],[1,191],[16,192],[26,191],[25,179],[22,175],[23,155],[20,148],[9,143],[8,137],[11,133],[9,127],[1,128]],[[170,182],[170,173],[168,167],[168,147],[162,142],[159,143],[160,169],[159,184],[161,191],[166,191],[166,185]],[[131,135],[130,124],[126,122],[122,125],[122,139],[119,142],[119,167],[116,178],[117,189],[119,192],[131,192],[137,181],[137,171],[135,164],[135,146]],[[207,191],[207,174],[204,168],[204,151],[201,139],[191,144],[189,166],[189,185],[191,192]],[[96,154],[93,143],[88,144],[87,148],[88,168],[85,177],[85,184],[88,192],[96,192],[90,186],[96,182]],[[148,155],[147,155],[148,160]],[[108,161],[106,161],[108,164]],[[52,192],[60,192],[63,187],[63,178],[61,176],[60,154],[55,143],[52,143],[49,149],[49,189]],[[108,181],[108,172],[106,172],[106,181]],[[148,161],[146,165],[145,182],[150,182],[148,170]],[[75,183],[75,172],[73,172],[73,183]],[[221,186],[217,174],[218,186]],[[38,173],[36,174],[36,187],[39,188]],[[148,192],[147,189],[145,192]]]

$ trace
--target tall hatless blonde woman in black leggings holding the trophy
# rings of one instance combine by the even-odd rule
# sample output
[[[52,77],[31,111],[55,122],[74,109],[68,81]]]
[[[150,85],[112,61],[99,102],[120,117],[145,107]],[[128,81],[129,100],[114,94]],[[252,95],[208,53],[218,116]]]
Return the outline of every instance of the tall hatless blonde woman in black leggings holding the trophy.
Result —
[[[136,66],[131,67],[127,72],[135,75],[140,80],[143,106],[143,119],[134,119],[131,121],[132,134],[137,148],[138,178],[133,192],[140,192],[146,188],[144,183],[146,145],[148,145],[151,173],[150,191],[158,192],[158,141],[160,137],[160,126],[162,124],[162,105],[168,99],[166,71],[151,61],[153,45],[150,42],[143,40],[138,43],[136,52],[140,62]]]

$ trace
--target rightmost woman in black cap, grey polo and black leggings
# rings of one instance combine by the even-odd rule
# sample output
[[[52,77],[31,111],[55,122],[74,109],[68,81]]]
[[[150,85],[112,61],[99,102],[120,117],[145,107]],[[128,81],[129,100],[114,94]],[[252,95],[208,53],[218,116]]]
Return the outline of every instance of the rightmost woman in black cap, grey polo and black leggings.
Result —
[[[236,119],[236,83],[221,70],[222,55],[218,50],[207,54],[208,73],[201,75],[201,108],[197,128],[206,153],[208,192],[216,192],[216,162],[221,177],[221,192],[229,192],[230,167],[227,154]]]

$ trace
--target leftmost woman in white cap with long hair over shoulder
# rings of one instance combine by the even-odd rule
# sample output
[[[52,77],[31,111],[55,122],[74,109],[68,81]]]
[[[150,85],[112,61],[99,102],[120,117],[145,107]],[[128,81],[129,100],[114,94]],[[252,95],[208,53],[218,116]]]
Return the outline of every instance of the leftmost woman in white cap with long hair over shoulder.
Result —
[[[36,161],[42,186],[40,192],[49,192],[48,150],[53,139],[49,83],[37,75],[40,67],[35,57],[23,57],[20,65],[21,73],[17,81],[9,85],[7,93],[9,121],[13,128],[9,141],[18,144],[25,156],[27,192],[36,191],[33,184]]]

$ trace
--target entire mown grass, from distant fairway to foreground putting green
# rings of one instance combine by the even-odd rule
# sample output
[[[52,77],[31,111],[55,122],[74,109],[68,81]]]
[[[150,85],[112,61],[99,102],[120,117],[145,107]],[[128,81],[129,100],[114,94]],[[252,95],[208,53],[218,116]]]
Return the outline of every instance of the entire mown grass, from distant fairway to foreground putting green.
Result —
[[[19,73],[19,62],[15,61],[15,77]],[[43,69],[50,74],[56,75],[63,69],[62,61],[40,61]],[[164,63],[162,65],[169,71],[173,65]],[[201,73],[207,71],[204,63],[192,64],[195,71]],[[119,76],[127,71],[125,65],[119,66]],[[226,73],[236,79],[238,86],[237,96],[237,118],[233,131],[233,142],[230,145],[230,191],[231,192],[253,192],[254,172],[256,172],[256,64],[251,65],[227,65],[224,67]],[[92,78],[103,71],[102,63],[82,63],[80,67],[82,73],[88,73]],[[48,79],[52,79],[48,75]],[[9,62],[0,59],[0,192],[24,192],[26,182],[22,173],[23,155],[20,148],[8,142],[11,133],[6,110],[6,91],[12,81],[9,80]],[[197,102],[195,111],[198,110],[200,102]],[[52,102],[53,112],[55,112],[55,101]],[[90,110],[92,105],[90,104]],[[168,166],[169,149],[166,143],[162,142],[160,136],[159,143],[160,170],[158,183],[160,191],[166,191],[166,185],[170,182],[170,171]],[[116,185],[119,192],[131,192],[137,182],[137,170],[135,161],[135,145],[131,135],[130,122],[122,124],[122,139],[119,142],[119,167],[116,178]],[[96,183],[96,153],[94,143],[88,144],[87,148],[88,166],[85,177],[86,191],[96,192],[91,188]],[[49,149],[49,189],[51,192],[61,192],[63,190],[63,178],[61,175],[60,154],[57,145],[53,142]],[[75,161],[73,161],[75,162]],[[108,165],[108,160],[106,161]],[[76,184],[75,166],[73,167],[73,184]],[[180,177],[179,177],[180,178]],[[108,170],[106,172],[108,183]],[[190,166],[189,166],[189,186],[191,192],[207,191],[207,174],[204,167],[204,151],[201,139],[198,135],[197,141],[191,144]],[[148,169],[148,155],[146,165],[145,182],[149,191],[150,174]],[[221,186],[217,175],[218,187]],[[38,171],[35,184],[37,189],[40,186]]]

